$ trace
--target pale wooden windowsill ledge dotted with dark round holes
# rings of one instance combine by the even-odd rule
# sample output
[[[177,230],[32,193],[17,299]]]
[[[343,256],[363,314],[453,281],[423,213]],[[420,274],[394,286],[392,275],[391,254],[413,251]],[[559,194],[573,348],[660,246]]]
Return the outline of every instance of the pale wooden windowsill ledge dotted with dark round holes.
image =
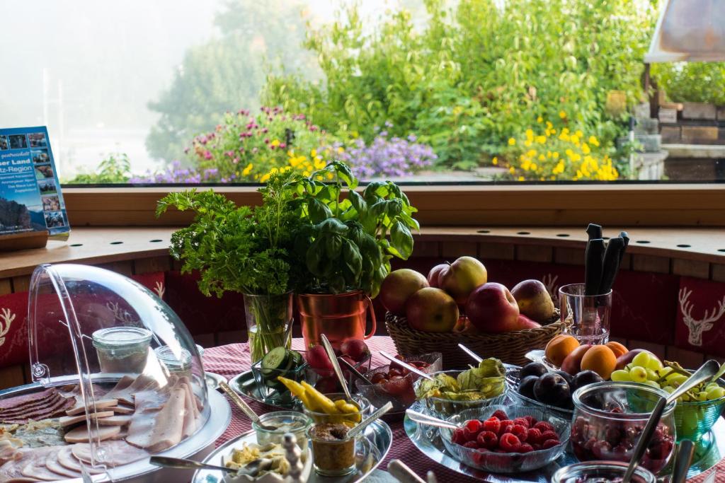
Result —
[[[75,228],[67,242],[51,240],[46,248],[0,253],[0,279],[28,275],[39,264],[108,264],[167,256],[174,230],[175,227],[164,226]],[[605,226],[605,235],[617,235],[619,230],[621,227]],[[725,265],[725,228],[635,227],[628,231],[631,243],[627,253]],[[582,226],[431,226],[423,227],[415,238],[419,242],[461,241],[577,249],[583,249],[587,239]]]

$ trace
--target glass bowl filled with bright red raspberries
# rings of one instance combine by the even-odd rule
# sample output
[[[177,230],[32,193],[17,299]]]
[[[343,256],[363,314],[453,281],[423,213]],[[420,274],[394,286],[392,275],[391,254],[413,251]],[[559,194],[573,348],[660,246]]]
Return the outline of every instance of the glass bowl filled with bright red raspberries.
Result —
[[[555,461],[566,449],[566,419],[536,408],[489,406],[461,411],[440,428],[451,455],[461,463],[492,473],[520,473]]]

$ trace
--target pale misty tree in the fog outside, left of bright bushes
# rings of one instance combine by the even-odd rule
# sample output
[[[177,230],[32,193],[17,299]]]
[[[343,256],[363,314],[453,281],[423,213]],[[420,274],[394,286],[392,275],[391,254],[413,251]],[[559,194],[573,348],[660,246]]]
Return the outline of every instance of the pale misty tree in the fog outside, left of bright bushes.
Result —
[[[189,49],[169,88],[149,103],[160,114],[146,138],[155,158],[181,159],[188,140],[212,129],[224,112],[256,109],[273,67],[310,73],[309,56],[298,48],[305,30],[299,1],[228,0],[215,24],[220,38]]]

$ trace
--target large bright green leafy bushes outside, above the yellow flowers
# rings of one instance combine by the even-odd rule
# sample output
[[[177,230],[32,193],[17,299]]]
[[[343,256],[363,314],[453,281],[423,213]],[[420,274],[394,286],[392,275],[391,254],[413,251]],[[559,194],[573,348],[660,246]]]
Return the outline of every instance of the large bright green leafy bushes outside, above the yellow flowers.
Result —
[[[640,76],[654,25],[647,0],[461,0],[455,11],[428,0],[428,22],[405,10],[368,28],[355,6],[311,30],[306,46],[325,83],[272,76],[266,104],[306,112],[344,138],[417,133],[452,167],[486,164],[537,117],[597,135],[605,147],[624,130],[605,112],[609,91],[642,96]],[[364,28],[365,27],[365,28]],[[514,134],[515,133],[515,134]]]

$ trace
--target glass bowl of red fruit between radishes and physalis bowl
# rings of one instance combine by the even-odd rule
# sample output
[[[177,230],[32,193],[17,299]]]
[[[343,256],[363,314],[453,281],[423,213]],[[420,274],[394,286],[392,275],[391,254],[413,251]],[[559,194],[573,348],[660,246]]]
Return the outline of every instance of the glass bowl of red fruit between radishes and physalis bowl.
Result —
[[[439,352],[421,354],[420,356],[395,356],[399,360],[420,369],[426,374],[440,371],[443,366],[442,356]],[[379,408],[385,403],[393,405],[389,413],[402,413],[415,402],[413,382],[420,376],[413,374],[403,366],[394,362],[386,366],[376,367],[363,374],[370,384],[356,379],[355,385],[361,395],[370,400],[370,403]]]

